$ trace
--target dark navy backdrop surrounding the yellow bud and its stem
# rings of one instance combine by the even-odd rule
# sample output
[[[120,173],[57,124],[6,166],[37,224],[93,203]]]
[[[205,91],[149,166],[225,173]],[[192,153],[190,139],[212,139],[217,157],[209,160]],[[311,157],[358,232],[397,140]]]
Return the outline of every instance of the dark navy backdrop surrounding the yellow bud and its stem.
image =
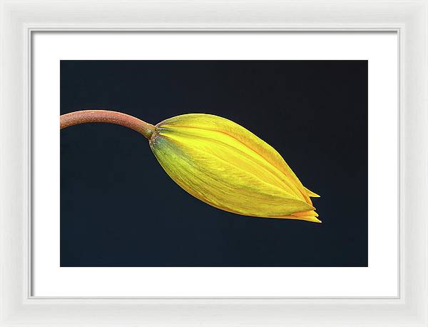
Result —
[[[319,193],[322,223],[183,191],[130,129],[61,131],[61,266],[367,266],[367,61],[61,61],[61,114],[231,119]]]

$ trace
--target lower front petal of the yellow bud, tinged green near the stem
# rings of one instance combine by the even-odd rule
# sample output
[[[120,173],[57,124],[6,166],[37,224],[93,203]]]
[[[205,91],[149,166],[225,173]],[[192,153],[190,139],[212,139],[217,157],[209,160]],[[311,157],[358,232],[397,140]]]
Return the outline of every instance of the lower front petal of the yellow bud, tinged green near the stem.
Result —
[[[280,216],[312,206],[230,164],[197,144],[158,135],[151,149],[168,175],[185,191],[216,208],[246,216]]]

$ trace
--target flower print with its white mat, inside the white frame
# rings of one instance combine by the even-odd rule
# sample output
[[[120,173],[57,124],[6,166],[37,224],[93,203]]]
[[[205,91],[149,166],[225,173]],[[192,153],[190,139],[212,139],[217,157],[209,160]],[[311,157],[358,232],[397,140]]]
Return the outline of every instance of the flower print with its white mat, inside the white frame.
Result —
[[[398,296],[398,256],[387,250],[397,248],[397,204],[368,206],[397,198],[397,40],[394,32],[35,32],[33,295]],[[314,41],[325,47],[308,54]],[[255,51],[260,43],[265,51]],[[170,44],[182,50],[172,55]],[[225,44],[227,53],[215,51]],[[51,114],[58,101],[61,131]],[[124,123],[76,124],[79,116]],[[138,117],[165,123],[147,136],[151,124],[132,130]],[[321,176],[325,188],[301,200],[315,210],[285,214],[287,194],[309,193]],[[384,221],[372,218],[379,211]]]

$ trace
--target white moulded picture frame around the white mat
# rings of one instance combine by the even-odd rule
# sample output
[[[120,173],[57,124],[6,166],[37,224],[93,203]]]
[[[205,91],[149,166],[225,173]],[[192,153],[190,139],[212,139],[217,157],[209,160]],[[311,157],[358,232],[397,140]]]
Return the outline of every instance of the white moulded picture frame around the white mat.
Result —
[[[426,0],[1,1],[1,326],[428,326]],[[397,31],[399,297],[31,296],[31,33]]]

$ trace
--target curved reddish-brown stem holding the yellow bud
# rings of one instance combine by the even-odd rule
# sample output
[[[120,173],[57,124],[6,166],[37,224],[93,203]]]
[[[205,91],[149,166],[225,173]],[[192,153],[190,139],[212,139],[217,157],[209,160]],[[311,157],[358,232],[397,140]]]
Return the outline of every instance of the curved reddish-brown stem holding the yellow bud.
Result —
[[[81,110],[60,116],[60,128],[87,123],[107,123],[128,127],[150,139],[155,126],[133,116],[110,110]]]

